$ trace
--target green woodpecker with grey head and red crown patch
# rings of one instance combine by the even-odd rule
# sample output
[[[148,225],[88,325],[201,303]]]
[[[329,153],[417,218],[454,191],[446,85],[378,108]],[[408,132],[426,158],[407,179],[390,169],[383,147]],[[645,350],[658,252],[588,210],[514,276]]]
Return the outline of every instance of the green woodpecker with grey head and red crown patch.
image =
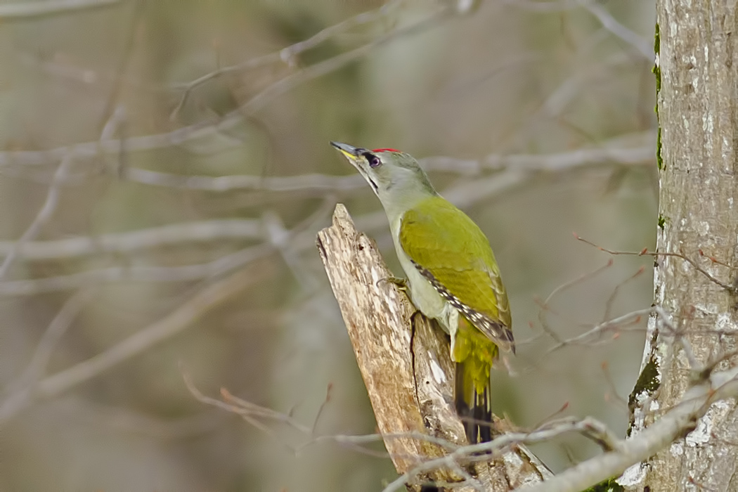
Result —
[[[470,443],[492,439],[490,370],[514,353],[510,305],[484,233],[436,193],[413,156],[331,142],[382,202],[415,308],[451,336],[454,403]]]

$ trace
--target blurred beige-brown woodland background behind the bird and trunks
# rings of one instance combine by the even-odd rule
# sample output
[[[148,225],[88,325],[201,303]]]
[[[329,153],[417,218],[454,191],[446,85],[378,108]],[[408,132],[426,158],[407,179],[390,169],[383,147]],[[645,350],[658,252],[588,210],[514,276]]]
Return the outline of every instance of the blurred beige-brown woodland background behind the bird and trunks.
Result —
[[[518,340],[495,412],[624,435],[644,320],[561,342],[652,302],[652,260],[572,232],[654,244],[654,23],[644,0],[0,1],[0,491],[396,477],[317,438],[376,425],[314,247],[335,204],[400,272],[329,140],[412,153],[489,236]]]

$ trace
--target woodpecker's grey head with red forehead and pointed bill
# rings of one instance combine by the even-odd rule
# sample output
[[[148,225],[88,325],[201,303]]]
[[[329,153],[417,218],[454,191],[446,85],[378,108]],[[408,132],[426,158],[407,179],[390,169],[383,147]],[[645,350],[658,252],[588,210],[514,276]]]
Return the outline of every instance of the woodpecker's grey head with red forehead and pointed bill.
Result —
[[[435,190],[418,161],[393,148],[368,150],[331,142],[364,176],[384,207],[397,201],[414,201],[435,195]]]

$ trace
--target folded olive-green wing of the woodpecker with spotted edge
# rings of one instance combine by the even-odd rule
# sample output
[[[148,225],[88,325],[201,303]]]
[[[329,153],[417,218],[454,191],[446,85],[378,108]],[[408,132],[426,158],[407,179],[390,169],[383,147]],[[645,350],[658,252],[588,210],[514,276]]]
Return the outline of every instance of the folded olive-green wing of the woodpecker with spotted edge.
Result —
[[[514,350],[505,286],[489,240],[440,196],[404,213],[400,245],[439,294],[501,348]]]

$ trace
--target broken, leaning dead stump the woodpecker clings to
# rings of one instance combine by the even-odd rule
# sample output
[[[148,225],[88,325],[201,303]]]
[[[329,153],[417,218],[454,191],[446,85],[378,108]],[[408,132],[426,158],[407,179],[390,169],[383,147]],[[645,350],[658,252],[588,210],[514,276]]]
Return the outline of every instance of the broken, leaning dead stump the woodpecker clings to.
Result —
[[[356,232],[341,204],[333,226],[318,234],[317,246],[397,471],[412,472],[422,462],[448,456],[466,437],[450,403],[453,370],[446,337],[415,313],[396,285],[383,281],[391,274],[376,245]],[[477,478],[477,487],[502,492],[549,474],[522,446],[493,457],[492,462],[478,462],[472,468],[449,460],[432,471],[411,473],[407,485],[420,491],[424,483],[460,482],[469,473]]]

